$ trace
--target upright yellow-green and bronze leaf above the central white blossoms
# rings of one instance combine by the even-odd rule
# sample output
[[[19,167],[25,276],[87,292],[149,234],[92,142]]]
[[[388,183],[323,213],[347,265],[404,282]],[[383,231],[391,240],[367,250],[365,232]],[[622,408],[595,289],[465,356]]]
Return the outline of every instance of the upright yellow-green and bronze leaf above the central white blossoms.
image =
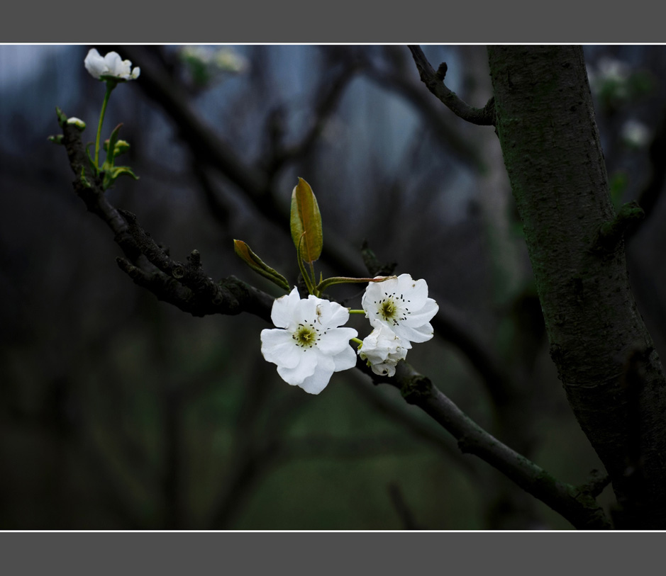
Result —
[[[302,178],[292,191],[291,226],[294,246],[299,249],[300,244],[301,258],[312,264],[323,247],[321,213],[312,188]]]

